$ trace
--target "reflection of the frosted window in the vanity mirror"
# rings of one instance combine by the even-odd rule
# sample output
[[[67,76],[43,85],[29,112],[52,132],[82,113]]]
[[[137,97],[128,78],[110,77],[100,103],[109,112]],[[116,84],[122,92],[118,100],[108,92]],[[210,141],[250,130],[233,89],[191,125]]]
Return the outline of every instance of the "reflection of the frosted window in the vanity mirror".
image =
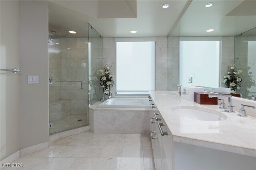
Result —
[[[219,87],[220,41],[180,41],[180,84]],[[188,82],[192,77],[192,83]]]

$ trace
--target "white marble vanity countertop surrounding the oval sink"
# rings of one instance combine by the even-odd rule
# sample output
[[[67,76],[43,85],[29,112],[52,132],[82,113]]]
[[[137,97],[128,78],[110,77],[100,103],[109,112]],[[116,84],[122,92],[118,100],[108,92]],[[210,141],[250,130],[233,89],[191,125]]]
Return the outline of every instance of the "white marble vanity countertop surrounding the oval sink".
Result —
[[[200,105],[181,98],[178,92],[150,91],[173,141],[256,157],[256,119],[226,113],[218,105]],[[210,108],[227,116],[224,121],[200,121],[172,111],[176,106]]]

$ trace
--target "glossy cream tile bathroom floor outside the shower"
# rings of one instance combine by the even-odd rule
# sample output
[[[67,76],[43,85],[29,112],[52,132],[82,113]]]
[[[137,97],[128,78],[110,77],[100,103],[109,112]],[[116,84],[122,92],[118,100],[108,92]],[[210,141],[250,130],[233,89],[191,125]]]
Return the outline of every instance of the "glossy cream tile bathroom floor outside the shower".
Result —
[[[22,168],[16,168],[19,170],[155,169],[148,134],[90,131],[51,141],[48,149],[24,155],[12,163],[22,163]]]

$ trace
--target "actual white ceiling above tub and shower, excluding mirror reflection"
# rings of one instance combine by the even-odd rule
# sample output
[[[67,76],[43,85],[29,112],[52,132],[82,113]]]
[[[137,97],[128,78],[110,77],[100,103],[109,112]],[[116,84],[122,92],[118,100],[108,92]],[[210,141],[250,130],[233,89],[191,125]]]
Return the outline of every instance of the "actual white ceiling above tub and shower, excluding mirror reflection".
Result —
[[[84,27],[88,22],[104,38],[167,36],[190,3],[189,0],[46,2],[49,3],[50,29],[62,34],[74,30],[79,35],[80,32],[85,33]],[[162,4],[166,3],[170,4],[170,7],[162,9]],[[130,30],[138,32],[132,34]],[[84,33],[81,35],[85,35]]]

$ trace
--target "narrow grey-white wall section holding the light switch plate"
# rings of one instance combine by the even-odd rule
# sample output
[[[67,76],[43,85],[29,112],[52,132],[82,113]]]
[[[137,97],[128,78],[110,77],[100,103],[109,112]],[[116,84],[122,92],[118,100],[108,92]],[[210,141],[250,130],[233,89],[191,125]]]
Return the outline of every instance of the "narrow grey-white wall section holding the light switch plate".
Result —
[[[20,149],[48,141],[48,6],[20,1]],[[28,84],[38,75],[38,84]]]

